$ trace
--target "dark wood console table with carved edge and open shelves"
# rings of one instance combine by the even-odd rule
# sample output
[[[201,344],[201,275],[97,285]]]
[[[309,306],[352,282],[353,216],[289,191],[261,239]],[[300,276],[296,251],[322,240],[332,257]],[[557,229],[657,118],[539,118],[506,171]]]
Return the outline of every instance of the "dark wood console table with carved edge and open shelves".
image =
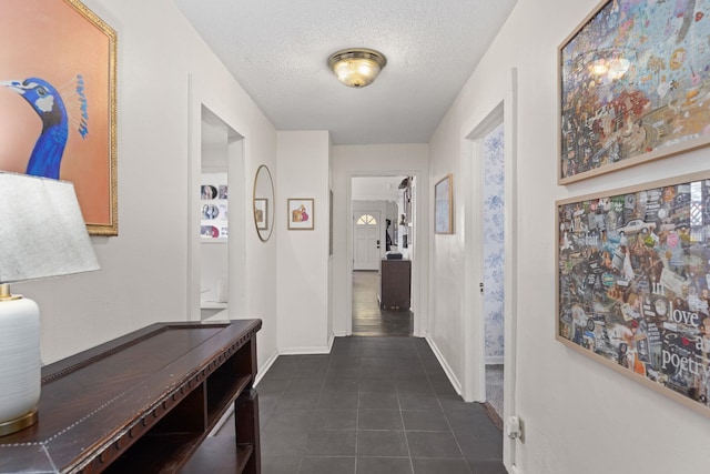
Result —
[[[39,421],[0,437],[0,473],[258,474],[261,325],[158,323],[44,366]],[[232,404],[236,436],[207,436]]]

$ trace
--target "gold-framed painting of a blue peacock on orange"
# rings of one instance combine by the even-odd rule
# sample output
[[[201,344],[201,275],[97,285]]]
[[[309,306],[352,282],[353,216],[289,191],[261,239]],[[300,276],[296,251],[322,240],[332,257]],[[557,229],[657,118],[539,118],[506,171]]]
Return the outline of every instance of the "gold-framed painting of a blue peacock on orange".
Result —
[[[73,182],[89,233],[118,235],[115,31],[79,0],[6,0],[0,43],[0,169]]]

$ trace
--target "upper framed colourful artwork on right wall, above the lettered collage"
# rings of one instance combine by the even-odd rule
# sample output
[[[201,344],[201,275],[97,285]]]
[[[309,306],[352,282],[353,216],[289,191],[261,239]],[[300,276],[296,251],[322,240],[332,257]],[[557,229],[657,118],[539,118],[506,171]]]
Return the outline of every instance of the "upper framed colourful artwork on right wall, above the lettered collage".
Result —
[[[558,182],[710,141],[710,21],[694,1],[602,1],[559,47]]]

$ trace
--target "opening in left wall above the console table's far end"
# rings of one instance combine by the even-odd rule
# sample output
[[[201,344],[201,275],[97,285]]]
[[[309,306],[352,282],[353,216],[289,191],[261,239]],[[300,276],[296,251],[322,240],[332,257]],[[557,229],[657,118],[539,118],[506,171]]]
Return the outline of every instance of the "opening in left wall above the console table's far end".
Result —
[[[244,307],[244,138],[203,103],[192,110],[189,317],[225,320]]]

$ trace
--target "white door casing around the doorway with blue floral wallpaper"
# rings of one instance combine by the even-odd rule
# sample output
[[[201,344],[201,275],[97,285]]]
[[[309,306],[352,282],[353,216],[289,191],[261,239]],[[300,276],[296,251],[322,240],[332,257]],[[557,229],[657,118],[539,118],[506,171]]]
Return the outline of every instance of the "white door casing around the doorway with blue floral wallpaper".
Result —
[[[479,142],[483,137],[498,123],[504,124],[504,200],[505,200],[505,374],[504,374],[504,423],[517,414],[516,380],[517,380],[517,69],[510,71],[510,88],[497,103],[483,108],[462,128],[464,161],[463,169],[467,181],[471,184],[465,195],[466,201],[466,281],[469,289],[477,289],[483,282],[483,238],[476,228],[483,213],[480,177],[483,165]],[[481,113],[483,112],[483,113]],[[476,294],[477,293],[477,294]],[[466,292],[465,331],[465,375],[464,399],[467,401],[486,400],[485,393],[485,352],[483,324],[483,297],[476,291]],[[510,472],[516,472],[516,443],[518,438],[504,437],[503,462]]]

